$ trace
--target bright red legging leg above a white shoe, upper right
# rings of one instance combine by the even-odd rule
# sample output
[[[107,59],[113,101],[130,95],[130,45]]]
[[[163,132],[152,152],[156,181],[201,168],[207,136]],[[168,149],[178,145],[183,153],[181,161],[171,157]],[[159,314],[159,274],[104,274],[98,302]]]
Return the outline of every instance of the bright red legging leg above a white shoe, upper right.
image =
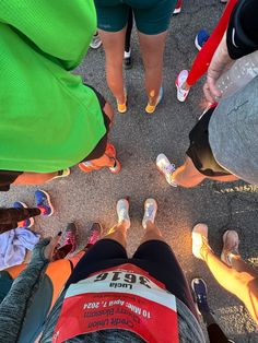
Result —
[[[186,81],[190,86],[192,86],[207,72],[212,60],[212,57],[227,28],[231,13],[237,1],[238,0],[230,0],[227,2],[227,5],[218,25],[210,35],[210,38],[207,40],[204,46],[198,52]]]

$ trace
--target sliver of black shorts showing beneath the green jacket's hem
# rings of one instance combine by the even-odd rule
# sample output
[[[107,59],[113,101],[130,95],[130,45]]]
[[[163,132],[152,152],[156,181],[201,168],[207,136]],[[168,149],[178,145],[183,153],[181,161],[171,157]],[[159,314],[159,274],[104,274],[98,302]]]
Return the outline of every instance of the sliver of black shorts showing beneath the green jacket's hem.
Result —
[[[94,93],[96,94],[96,97],[98,99],[98,103],[101,105],[102,108],[102,114],[103,114],[103,119],[104,119],[104,123],[106,127],[107,132],[105,133],[105,135],[101,139],[101,141],[97,143],[97,145],[94,147],[94,150],[90,153],[90,155],[87,155],[85,158],[83,158],[82,162],[86,162],[86,161],[91,161],[91,159],[96,159],[99,158],[104,155],[105,151],[106,151],[106,145],[107,145],[107,135],[108,135],[108,131],[109,131],[109,126],[110,126],[110,119],[107,117],[107,115],[104,111],[104,107],[106,105],[106,99],[104,98],[104,96],[98,93],[93,86],[90,86],[89,84],[86,84],[87,87],[92,88],[94,91]]]

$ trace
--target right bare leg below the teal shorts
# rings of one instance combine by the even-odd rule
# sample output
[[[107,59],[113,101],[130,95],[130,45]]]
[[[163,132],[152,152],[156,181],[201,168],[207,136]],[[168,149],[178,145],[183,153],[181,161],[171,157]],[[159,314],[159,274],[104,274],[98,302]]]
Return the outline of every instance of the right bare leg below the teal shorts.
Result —
[[[163,56],[167,31],[159,35],[139,33],[145,69],[145,88],[150,105],[155,105],[162,85]]]

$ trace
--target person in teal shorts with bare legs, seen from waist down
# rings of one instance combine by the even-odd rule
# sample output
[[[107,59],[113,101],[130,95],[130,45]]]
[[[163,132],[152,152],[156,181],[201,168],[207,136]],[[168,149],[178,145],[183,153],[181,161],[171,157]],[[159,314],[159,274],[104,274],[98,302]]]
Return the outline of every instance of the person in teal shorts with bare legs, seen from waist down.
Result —
[[[165,39],[176,0],[103,1],[95,0],[97,26],[106,55],[107,84],[116,98],[119,113],[127,111],[127,90],[122,78],[124,46],[128,16],[133,12],[143,64],[148,104],[152,114],[162,99],[162,69]]]

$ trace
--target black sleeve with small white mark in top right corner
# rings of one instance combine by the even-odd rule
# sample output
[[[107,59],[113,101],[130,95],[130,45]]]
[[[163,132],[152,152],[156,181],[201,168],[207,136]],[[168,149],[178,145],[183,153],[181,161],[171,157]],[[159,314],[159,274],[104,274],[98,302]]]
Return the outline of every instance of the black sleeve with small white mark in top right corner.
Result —
[[[239,0],[232,11],[226,32],[226,45],[232,59],[258,49],[258,1]]]

